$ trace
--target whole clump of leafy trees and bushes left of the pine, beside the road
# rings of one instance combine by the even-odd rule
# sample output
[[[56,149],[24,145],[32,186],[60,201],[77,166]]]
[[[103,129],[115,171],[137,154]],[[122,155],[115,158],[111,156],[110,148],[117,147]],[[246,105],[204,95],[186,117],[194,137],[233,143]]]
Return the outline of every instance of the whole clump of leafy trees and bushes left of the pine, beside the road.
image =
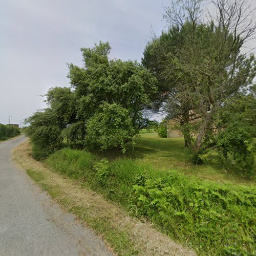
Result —
[[[69,64],[71,88],[51,88],[48,109],[27,119],[32,143],[44,151],[41,157],[63,145],[124,152],[147,123],[143,113],[151,108],[156,79],[136,61],[110,59],[110,49],[108,42],[81,48],[84,66]]]

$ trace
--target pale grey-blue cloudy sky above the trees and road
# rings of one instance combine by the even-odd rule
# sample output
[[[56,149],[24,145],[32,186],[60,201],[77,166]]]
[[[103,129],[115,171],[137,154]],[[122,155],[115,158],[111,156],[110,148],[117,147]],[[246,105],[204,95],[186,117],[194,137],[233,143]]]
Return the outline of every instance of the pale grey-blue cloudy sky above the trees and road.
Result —
[[[67,62],[82,66],[81,47],[109,41],[112,58],[140,61],[152,30],[165,28],[168,0],[0,3],[0,123],[19,124],[45,107],[49,88],[69,86]]]

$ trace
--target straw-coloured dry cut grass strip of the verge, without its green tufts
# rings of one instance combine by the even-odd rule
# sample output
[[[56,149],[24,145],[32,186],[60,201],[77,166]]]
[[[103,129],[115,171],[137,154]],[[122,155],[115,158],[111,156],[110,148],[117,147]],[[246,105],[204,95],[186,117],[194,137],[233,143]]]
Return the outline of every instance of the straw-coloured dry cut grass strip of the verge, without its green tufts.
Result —
[[[173,242],[154,229],[150,223],[143,223],[130,217],[121,207],[106,201],[103,196],[95,193],[90,188],[81,187],[78,182],[53,172],[44,163],[35,161],[31,157],[31,147],[28,140],[13,150],[13,158],[23,169],[44,175],[44,182],[47,185],[57,187],[58,193],[54,197],[54,201],[58,203],[68,201],[65,210],[79,208],[78,216],[82,221],[87,219],[106,220],[111,230],[117,233],[125,233],[132,246],[134,246],[136,254],[196,255],[194,251]],[[84,218],[81,218],[83,215],[81,209],[84,211],[84,216],[86,216]],[[75,210],[74,213],[76,214]],[[84,225],[88,226],[87,223],[84,223]],[[105,238],[104,232],[98,232],[98,235],[103,239]],[[115,244],[109,243],[109,246],[115,248]],[[119,254],[122,254],[120,250]]]

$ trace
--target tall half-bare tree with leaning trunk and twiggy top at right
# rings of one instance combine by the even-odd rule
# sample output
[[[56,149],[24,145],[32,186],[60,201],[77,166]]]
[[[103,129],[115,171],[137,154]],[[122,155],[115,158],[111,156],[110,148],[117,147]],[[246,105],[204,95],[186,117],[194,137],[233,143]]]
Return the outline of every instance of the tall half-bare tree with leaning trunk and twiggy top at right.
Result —
[[[198,154],[202,152],[206,134],[214,130],[214,116],[222,108],[223,102],[251,84],[255,77],[254,56],[248,57],[241,53],[242,46],[253,35],[256,27],[255,22],[249,19],[251,11],[246,11],[246,2],[213,2],[218,14],[214,17],[207,15],[208,21],[205,22],[200,17],[202,1],[172,1],[172,8],[166,8],[166,17],[171,26],[169,34],[173,41],[178,42],[185,33],[185,39],[181,40],[182,44],[178,48],[160,47],[156,52],[160,57],[155,58],[158,63],[162,61],[161,65],[155,64],[160,69],[153,70],[155,73],[160,70],[161,80],[170,83],[166,94],[170,95],[168,101],[172,104],[168,106],[174,116],[177,109],[181,115],[186,108],[186,113],[193,110],[196,115],[200,115],[193,144]],[[175,36],[174,31],[178,31]],[[157,40],[153,40],[149,48],[159,44]],[[144,54],[144,58],[146,56]],[[165,84],[163,88],[166,88]],[[182,115],[185,120],[184,117]],[[190,126],[187,127],[189,129]],[[188,139],[190,132],[185,129]]]

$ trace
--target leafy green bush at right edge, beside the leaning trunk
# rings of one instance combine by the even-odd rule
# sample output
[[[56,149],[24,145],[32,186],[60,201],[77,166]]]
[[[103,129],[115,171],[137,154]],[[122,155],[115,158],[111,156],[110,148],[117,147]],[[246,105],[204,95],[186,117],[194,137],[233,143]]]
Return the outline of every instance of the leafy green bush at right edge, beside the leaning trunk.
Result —
[[[256,152],[256,99],[239,95],[225,102],[218,116],[217,148],[223,160],[228,157],[247,177],[253,177]]]

